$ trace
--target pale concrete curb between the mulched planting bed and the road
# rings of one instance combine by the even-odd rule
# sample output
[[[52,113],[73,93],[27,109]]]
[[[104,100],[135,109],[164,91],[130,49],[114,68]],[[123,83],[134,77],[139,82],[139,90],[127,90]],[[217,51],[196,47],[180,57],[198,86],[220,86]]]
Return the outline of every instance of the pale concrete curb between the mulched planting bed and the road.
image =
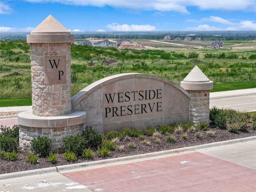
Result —
[[[99,166],[99,165],[101,165],[101,166],[104,165],[105,167],[107,167],[107,166],[111,166],[111,164],[116,163],[116,162],[122,162],[123,164],[125,164],[125,162],[128,162],[130,160],[134,160],[134,161],[138,162],[138,161],[146,160],[146,158],[153,158],[153,157],[161,158],[161,156],[166,156],[166,155],[171,155],[171,154],[179,154],[181,152],[189,152],[189,151],[193,152],[193,151],[204,149],[204,148],[225,146],[225,145],[229,145],[229,144],[236,144],[236,143],[247,142],[247,141],[252,141],[252,140],[256,140],[256,136],[215,142],[215,143],[209,143],[209,144],[203,144],[203,145],[197,145],[197,146],[190,146],[190,147],[178,148],[178,149],[172,149],[172,150],[166,150],[166,151],[160,151],[160,152],[118,157],[118,158],[113,158],[113,159],[98,160],[98,161],[91,161],[91,162],[84,162],[84,163],[70,164],[70,165],[62,165],[62,166],[28,170],[28,171],[22,171],[22,172],[6,173],[6,174],[0,174],[0,180],[18,178],[18,177],[24,177],[24,176],[40,175],[40,174],[52,173],[52,172],[60,172],[60,171],[65,171],[65,170],[73,170],[73,169],[78,169],[78,168],[86,168],[86,167]]]

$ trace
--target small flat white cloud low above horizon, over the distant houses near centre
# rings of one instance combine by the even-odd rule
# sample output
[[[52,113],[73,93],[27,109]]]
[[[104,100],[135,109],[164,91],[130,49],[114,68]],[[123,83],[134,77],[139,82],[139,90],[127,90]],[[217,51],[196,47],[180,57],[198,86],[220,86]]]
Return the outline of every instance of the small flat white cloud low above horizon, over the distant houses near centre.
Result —
[[[108,24],[106,26],[107,28],[109,28],[112,31],[156,31],[156,27],[155,26],[151,26],[151,25],[128,25],[128,24],[117,24],[117,23],[112,23],[112,24]]]

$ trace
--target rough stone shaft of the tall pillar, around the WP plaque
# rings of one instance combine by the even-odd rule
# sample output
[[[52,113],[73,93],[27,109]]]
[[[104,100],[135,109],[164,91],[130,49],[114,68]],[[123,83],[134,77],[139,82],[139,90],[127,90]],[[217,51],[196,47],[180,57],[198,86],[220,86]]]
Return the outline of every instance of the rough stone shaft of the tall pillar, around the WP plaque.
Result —
[[[32,111],[37,116],[71,112],[71,43],[30,43]],[[44,84],[44,56],[66,55],[67,84]]]

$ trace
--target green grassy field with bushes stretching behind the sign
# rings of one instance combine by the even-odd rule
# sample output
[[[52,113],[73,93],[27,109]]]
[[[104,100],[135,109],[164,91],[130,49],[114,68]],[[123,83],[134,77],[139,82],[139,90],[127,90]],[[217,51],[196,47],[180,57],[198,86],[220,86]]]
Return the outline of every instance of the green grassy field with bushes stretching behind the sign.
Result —
[[[224,42],[226,48],[212,49],[208,48],[211,42],[134,41],[146,47],[72,45],[72,95],[96,80],[127,72],[161,76],[180,84],[196,65],[214,82],[211,92],[256,87],[256,43],[229,41]],[[0,61],[0,106],[31,105],[28,44],[1,41]]]

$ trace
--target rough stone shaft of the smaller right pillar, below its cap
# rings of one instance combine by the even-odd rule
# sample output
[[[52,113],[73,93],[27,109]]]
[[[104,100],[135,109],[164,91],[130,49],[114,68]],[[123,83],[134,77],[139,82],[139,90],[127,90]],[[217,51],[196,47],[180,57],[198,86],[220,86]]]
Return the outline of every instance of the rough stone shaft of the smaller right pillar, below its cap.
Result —
[[[190,93],[189,121],[193,124],[210,123],[210,90],[187,90]]]

